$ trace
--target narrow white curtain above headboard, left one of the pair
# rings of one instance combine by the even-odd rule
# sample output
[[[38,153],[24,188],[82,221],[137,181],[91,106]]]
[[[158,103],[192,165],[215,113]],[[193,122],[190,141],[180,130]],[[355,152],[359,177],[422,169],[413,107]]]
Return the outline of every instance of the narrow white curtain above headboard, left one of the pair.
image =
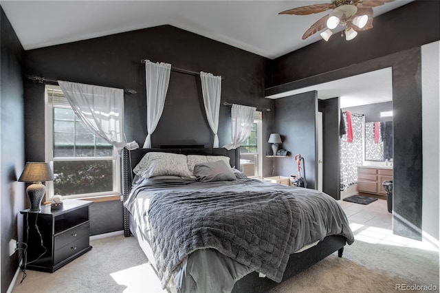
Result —
[[[170,83],[171,65],[168,63],[152,63],[145,61],[146,81],[146,131],[144,149],[151,149],[151,133],[159,123],[164,111],[166,91]]]

